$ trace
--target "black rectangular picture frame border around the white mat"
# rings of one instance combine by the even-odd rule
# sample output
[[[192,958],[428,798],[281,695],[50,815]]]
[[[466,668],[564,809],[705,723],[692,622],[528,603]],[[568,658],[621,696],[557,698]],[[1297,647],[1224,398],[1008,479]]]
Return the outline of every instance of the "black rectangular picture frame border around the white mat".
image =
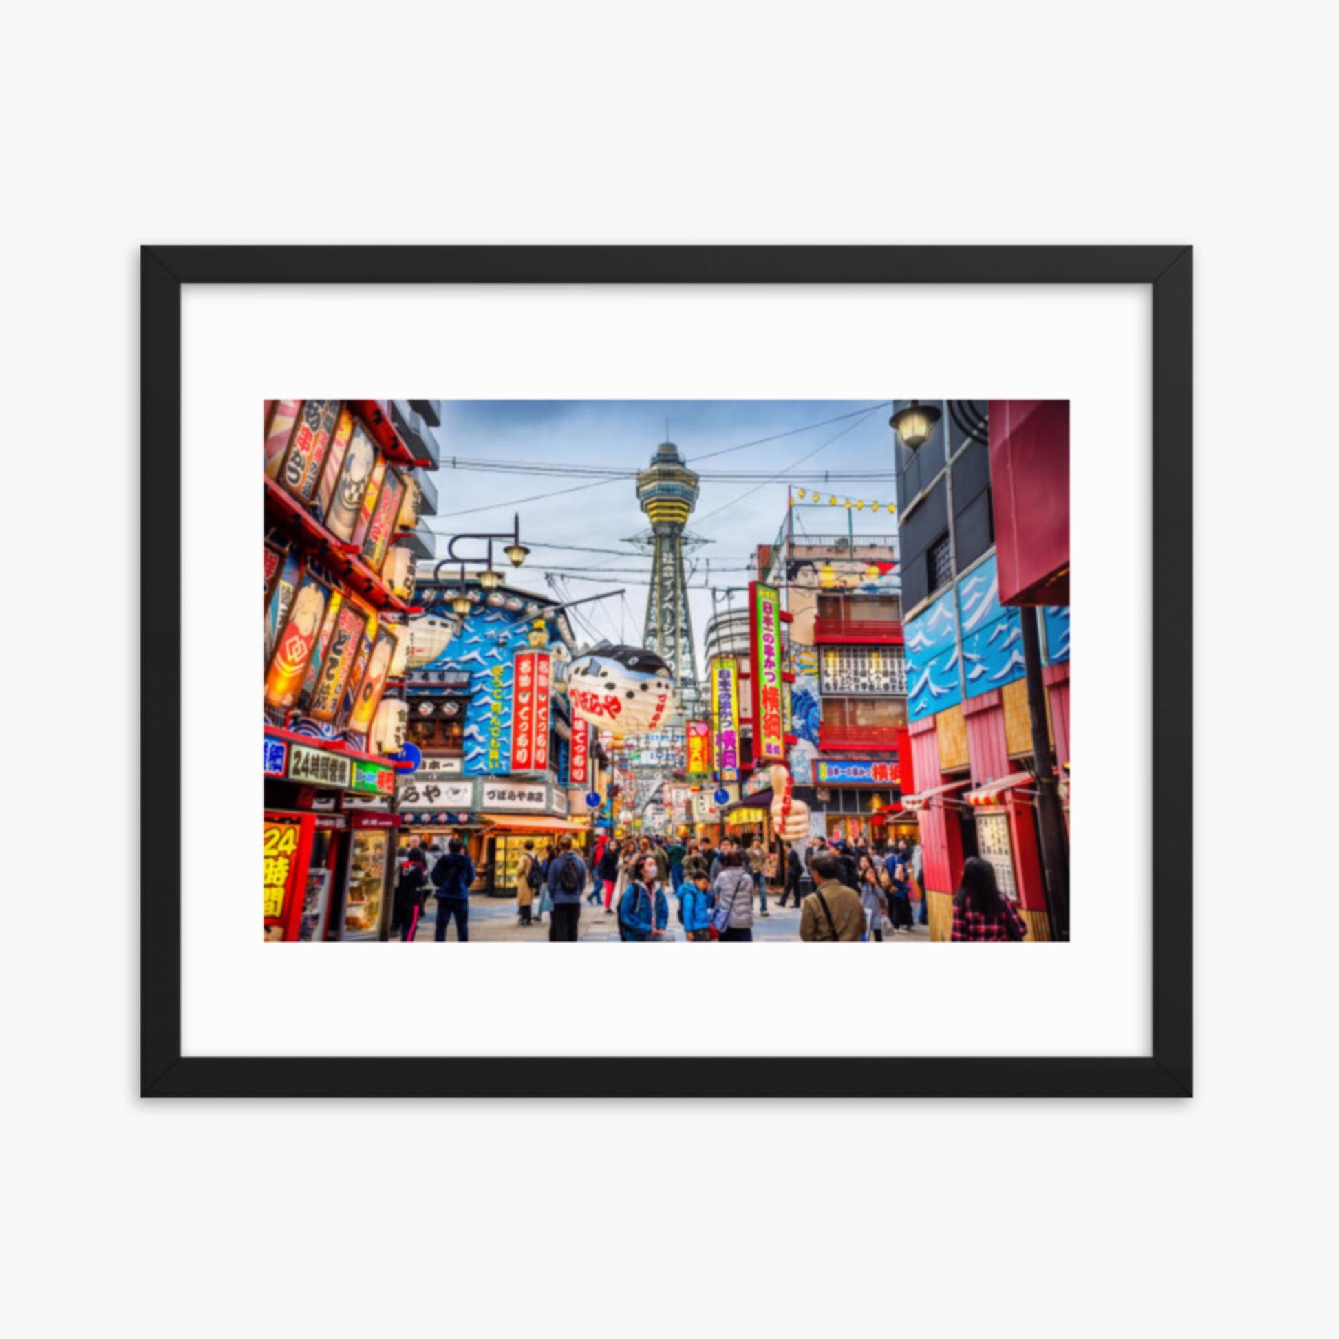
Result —
[[[1138,284],[1153,289],[1153,1048],[1145,1056],[355,1058],[181,1054],[183,284]],[[1189,1097],[1189,246],[145,246],[141,253],[141,1094]],[[175,648],[177,653],[165,648]],[[149,793],[151,786],[151,793]]]

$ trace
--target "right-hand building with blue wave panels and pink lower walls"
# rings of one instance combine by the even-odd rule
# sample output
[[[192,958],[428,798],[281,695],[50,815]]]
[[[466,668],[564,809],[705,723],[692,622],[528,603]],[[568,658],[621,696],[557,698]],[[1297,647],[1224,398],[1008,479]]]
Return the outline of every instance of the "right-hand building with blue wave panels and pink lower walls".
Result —
[[[920,821],[931,937],[948,939],[963,862],[979,856],[995,868],[1028,937],[1044,940],[1052,935],[1023,621],[1034,620],[1038,632],[1047,743],[1067,803],[1069,608],[1019,597],[1069,599],[1069,407],[925,404],[935,419],[925,441],[912,449],[894,432],[894,450],[917,782],[907,805]],[[1032,471],[1027,459],[1038,450],[1048,465]],[[1054,524],[1043,525],[1043,513]],[[1031,589],[1019,573],[1031,574]]]

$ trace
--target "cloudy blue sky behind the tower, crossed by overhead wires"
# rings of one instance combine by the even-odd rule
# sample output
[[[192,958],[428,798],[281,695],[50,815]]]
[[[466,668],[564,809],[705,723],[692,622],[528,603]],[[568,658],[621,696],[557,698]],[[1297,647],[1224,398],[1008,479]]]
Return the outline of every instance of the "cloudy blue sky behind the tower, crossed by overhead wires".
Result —
[[[870,412],[813,426],[864,410]],[[888,416],[888,404],[877,392],[864,400],[447,400],[437,434],[442,446],[442,467],[434,475],[438,516],[430,517],[428,525],[443,536],[505,530],[511,513],[520,511],[521,537],[533,552],[517,585],[552,596],[546,580],[550,572],[609,569],[608,577],[600,570],[568,574],[565,589],[570,599],[580,599],[625,586],[625,604],[616,597],[577,612],[601,636],[636,643],[641,639],[651,564],[621,542],[647,529],[633,482],[453,470],[451,457],[640,469],[665,439],[668,419],[670,441],[699,473],[749,470],[777,475],[775,482],[702,482],[688,522],[691,533],[708,541],[692,553],[696,589],[690,592],[700,671],[703,635],[714,608],[704,586],[710,582],[720,592],[715,608],[724,608],[731,599],[726,589],[747,582],[744,568],[754,546],[770,542],[785,522],[787,482],[822,487],[829,471],[877,471],[877,481],[833,482],[832,491],[878,502],[894,499]],[[695,462],[695,457],[795,428],[806,431]],[[886,518],[866,516],[856,521],[857,533],[888,533]],[[798,522],[810,533],[845,532],[846,514],[844,509],[805,510],[798,513]],[[616,552],[581,553],[548,545]],[[463,542],[461,550],[466,550]],[[445,553],[446,544],[439,541],[438,556]],[[738,604],[742,596],[735,593],[732,600]],[[578,635],[586,631],[580,623],[574,629]]]

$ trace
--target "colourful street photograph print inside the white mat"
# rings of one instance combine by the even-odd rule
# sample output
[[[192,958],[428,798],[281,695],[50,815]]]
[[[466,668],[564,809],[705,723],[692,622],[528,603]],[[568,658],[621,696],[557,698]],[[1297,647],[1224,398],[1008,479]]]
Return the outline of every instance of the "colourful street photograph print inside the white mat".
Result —
[[[265,940],[1067,941],[1069,432],[266,400]]]

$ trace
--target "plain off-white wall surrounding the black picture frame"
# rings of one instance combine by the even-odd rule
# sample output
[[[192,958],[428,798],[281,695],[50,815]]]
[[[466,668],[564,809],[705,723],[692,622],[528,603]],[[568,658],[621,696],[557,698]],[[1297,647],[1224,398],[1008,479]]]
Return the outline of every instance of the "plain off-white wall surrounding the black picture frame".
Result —
[[[1308,716],[1306,684],[1328,653],[1300,612],[1271,612],[1275,635],[1293,629],[1279,700],[1259,637],[1260,603],[1322,556],[1304,537],[1332,532],[1319,517],[1335,483],[1336,296],[1320,126],[1335,107],[1315,15],[387,3],[11,16],[8,447],[46,485],[37,506],[9,494],[16,1332],[1323,1326],[1335,881],[1308,757],[1332,726]],[[145,240],[1193,241],[1200,1095],[138,1102]],[[1284,494],[1276,540],[1259,503],[1303,461],[1326,479]],[[1111,821],[1119,860],[1142,834],[1121,832],[1118,803]],[[787,1002],[758,1007],[782,1019]]]

